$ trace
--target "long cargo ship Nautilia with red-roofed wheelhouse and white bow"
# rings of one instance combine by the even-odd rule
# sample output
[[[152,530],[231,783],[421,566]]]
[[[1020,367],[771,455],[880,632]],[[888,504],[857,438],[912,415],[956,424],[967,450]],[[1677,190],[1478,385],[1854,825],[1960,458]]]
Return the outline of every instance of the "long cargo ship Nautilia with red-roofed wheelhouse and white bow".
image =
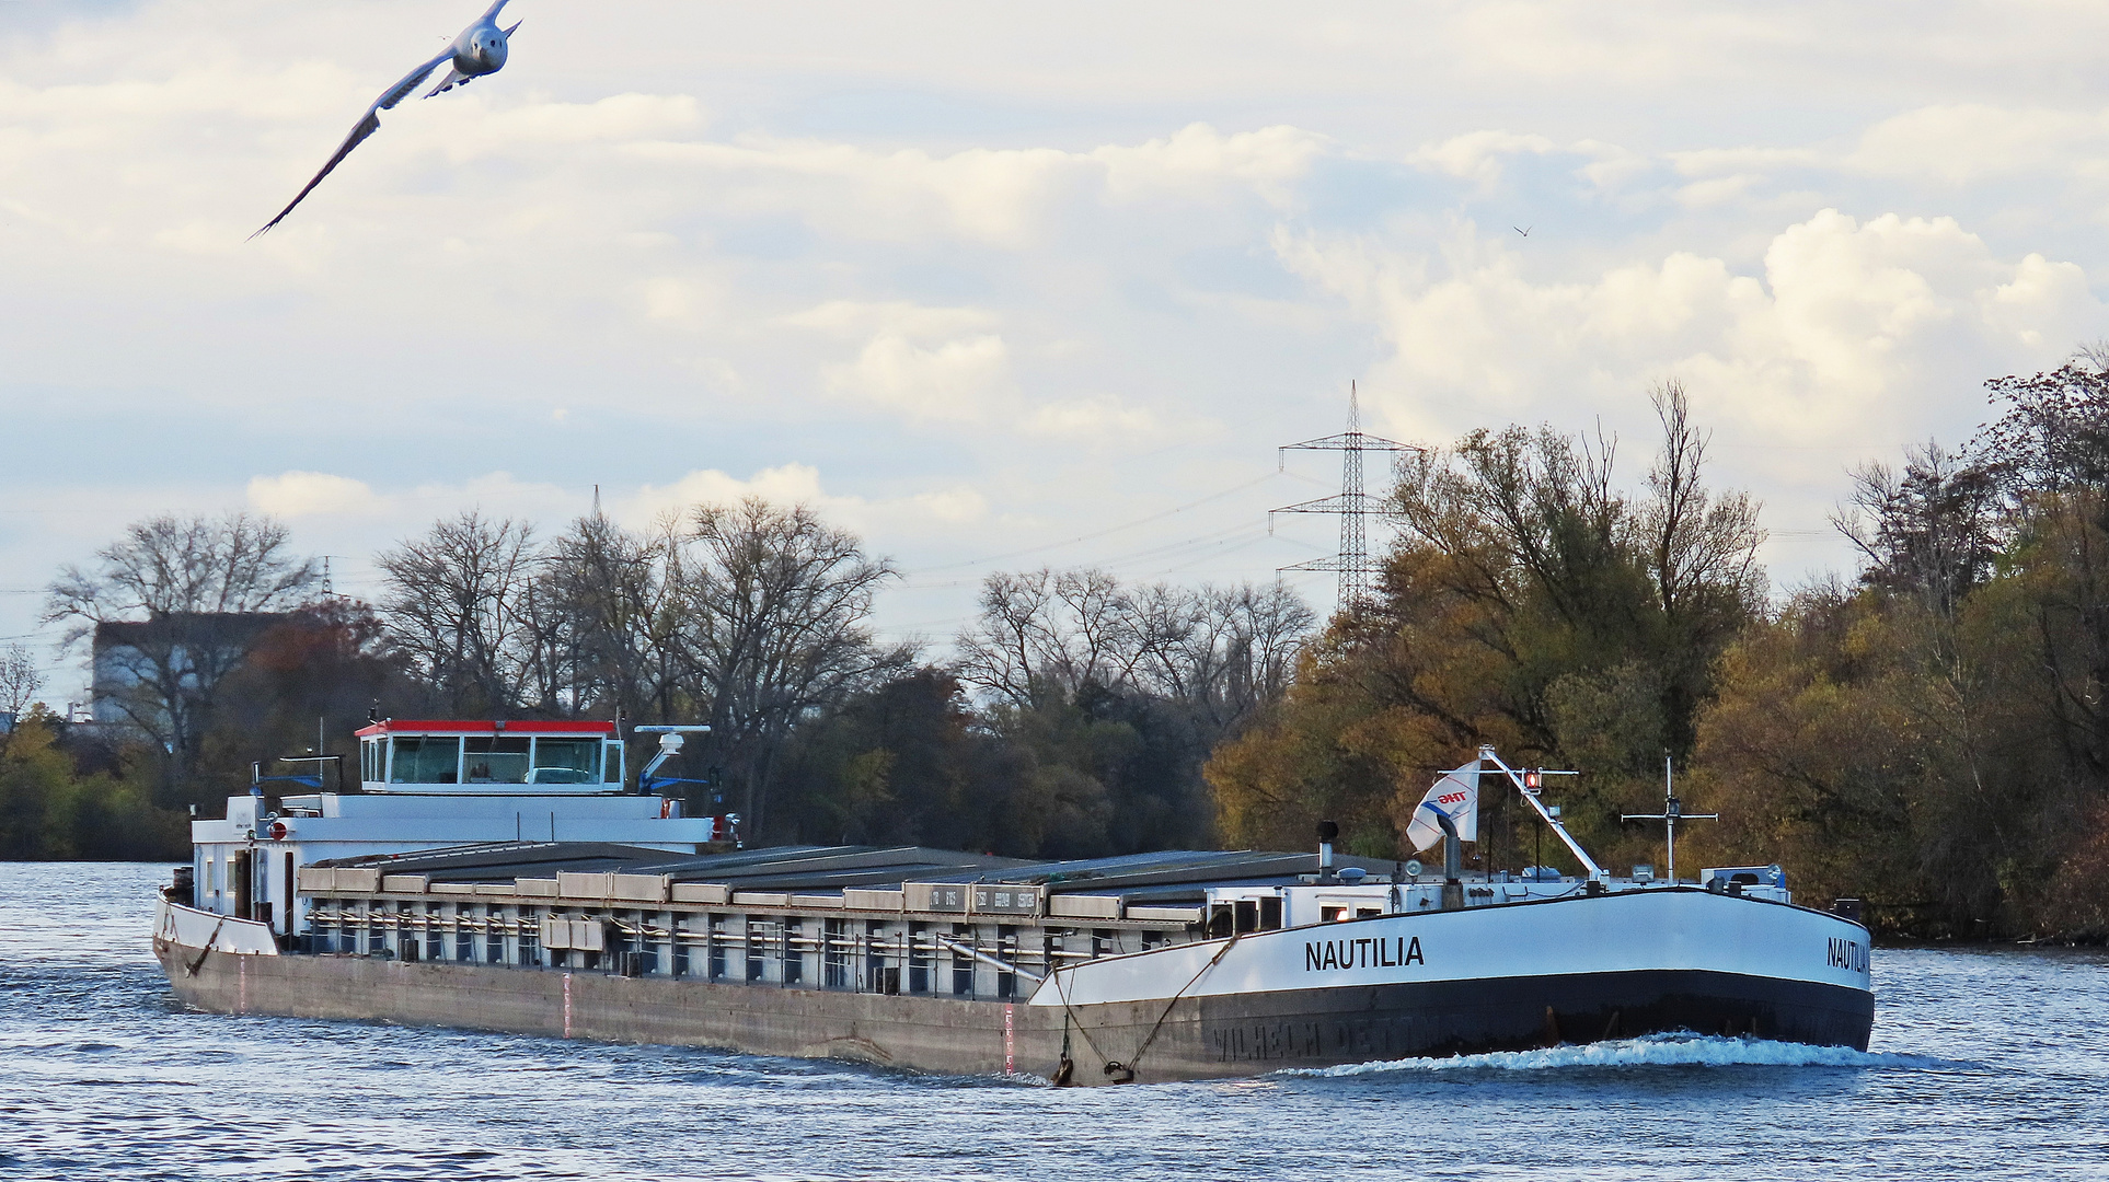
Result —
[[[198,1009],[719,1047],[1057,1085],[1181,1081],[1691,1030],[1866,1049],[1871,938],[1778,866],[1613,876],[1481,748],[1415,830],[1443,866],[1316,851],[1029,862],[738,843],[612,723],[378,721],[359,788],[259,775],[156,902]],[[321,767],[321,765],[318,765]],[[1462,868],[1481,784],[1580,870]],[[1675,824],[1675,796],[1662,820]]]

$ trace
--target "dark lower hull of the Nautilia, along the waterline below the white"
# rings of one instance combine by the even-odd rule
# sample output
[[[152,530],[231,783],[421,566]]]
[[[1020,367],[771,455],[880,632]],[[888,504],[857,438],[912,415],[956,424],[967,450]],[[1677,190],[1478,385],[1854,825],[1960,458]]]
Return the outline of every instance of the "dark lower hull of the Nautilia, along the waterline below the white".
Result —
[[[1672,1030],[1864,1049],[1873,1026],[1866,990],[1704,969],[1027,1005],[350,954],[200,954],[175,940],[156,940],[156,954],[181,1001],[224,1013],[694,1045],[1067,1083],[1246,1077]]]

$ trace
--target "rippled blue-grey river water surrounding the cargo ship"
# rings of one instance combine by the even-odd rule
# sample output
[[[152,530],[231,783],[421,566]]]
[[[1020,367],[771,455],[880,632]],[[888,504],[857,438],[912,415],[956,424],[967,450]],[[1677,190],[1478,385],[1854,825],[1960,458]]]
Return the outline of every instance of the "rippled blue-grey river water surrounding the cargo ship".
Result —
[[[0,1178],[2109,1178],[2098,950],[1877,950],[1869,1053],[1645,1039],[1048,1089],[190,1013],[162,866],[0,864]]]

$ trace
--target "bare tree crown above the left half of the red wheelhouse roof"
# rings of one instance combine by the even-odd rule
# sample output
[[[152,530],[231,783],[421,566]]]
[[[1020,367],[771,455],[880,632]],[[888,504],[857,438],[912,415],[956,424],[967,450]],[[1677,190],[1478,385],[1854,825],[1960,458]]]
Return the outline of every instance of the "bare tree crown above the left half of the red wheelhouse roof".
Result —
[[[432,523],[375,558],[388,634],[449,710],[504,714],[523,706],[538,676],[548,685],[534,560],[531,525],[479,510]]]

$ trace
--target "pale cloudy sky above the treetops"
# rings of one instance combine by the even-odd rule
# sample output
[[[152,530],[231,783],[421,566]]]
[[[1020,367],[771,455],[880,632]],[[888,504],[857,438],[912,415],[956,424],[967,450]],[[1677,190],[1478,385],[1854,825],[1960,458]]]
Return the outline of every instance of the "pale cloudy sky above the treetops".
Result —
[[[42,588],[160,512],[371,596],[470,508],[806,501],[932,653],[989,571],[1268,582],[1335,548],[1268,510],[1350,381],[1637,482],[1679,379],[1784,590],[1850,468],[2109,335],[2103,4],[512,0],[251,240],[475,17],[0,0],[0,643],[53,702]]]

